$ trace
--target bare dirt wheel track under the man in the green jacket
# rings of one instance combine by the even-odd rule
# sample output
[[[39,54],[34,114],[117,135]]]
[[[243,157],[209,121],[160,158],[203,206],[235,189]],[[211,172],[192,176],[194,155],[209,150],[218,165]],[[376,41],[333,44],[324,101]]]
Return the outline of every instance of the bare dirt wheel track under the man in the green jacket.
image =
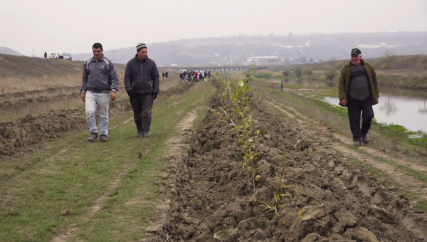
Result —
[[[275,107],[276,109],[280,110],[280,112],[283,112],[285,114],[289,113],[286,110],[284,110],[282,107],[280,107],[280,106],[284,106],[282,104],[275,105],[273,102],[268,102],[268,101],[265,101],[265,103],[268,103],[270,106]],[[315,120],[310,120],[308,117],[306,117],[305,115],[302,115],[300,112],[295,110],[295,108],[293,108],[293,107],[286,106],[286,108],[288,108],[289,110],[292,110],[292,112],[295,112],[296,115],[300,116],[303,119],[302,125],[304,125],[305,127],[304,127],[304,129],[302,129],[302,132],[307,132],[307,133],[309,133],[308,135],[316,135],[315,132],[312,132],[312,130],[310,130],[310,127],[308,127],[308,125],[306,123],[306,121],[311,121],[311,122],[317,123]],[[317,125],[317,127],[318,127],[318,130],[320,130],[322,133],[324,133],[323,137],[328,136],[328,134],[325,134],[325,131],[327,131],[327,128],[320,128],[321,125]],[[399,169],[397,169],[396,167],[393,167],[390,164],[386,164],[384,162],[377,161],[375,159],[375,157],[381,157],[381,156],[377,156],[375,154],[375,153],[378,153],[378,151],[376,151],[375,149],[372,149],[369,147],[362,147],[362,149],[364,149],[365,151],[367,151],[369,153],[369,155],[371,156],[370,157],[369,155],[361,154],[359,152],[356,152],[356,151],[350,149],[349,147],[346,147],[345,144],[349,144],[349,142],[347,142],[348,139],[346,137],[343,137],[342,135],[338,135],[338,134],[332,134],[332,137],[339,140],[339,142],[335,142],[332,139],[327,139],[330,142],[331,147],[333,149],[336,149],[337,151],[342,152],[347,157],[358,159],[360,162],[365,162],[367,164],[370,164],[372,167],[375,167],[376,169],[381,169],[382,171],[386,172],[386,174],[389,174],[390,177],[392,177],[392,179],[399,182],[399,184],[401,184],[402,186],[405,186],[406,189],[415,192],[416,194],[421,196],[423,199],[427,200],[427,186],[426,186],[426,184],[423,184],[421,181],[418,181],[418,180],[414,179],[413,177],[404,174],[404,172],[399,171]],[[387,156],[387,157],[389,157],[389,156]],[[381,158],[386,158],[386,157],[381,157]],[[389,157],[389,158],[391,158],[391,157]],[[408,161],[404,161],[404,160],[400,160],[400,159],[390,159],[390,160],[392,160],[396,163],[411,167],[412,169],[414,169],[418,172],[426,172],[427,171],[426,167],[420,166],[418,164],[414,164],[413,162],[408,162]]]

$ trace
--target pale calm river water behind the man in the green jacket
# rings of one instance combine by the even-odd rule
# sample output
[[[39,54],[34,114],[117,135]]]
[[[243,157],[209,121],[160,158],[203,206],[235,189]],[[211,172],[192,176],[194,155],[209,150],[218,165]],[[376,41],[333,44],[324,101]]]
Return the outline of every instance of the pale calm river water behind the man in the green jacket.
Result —
[[[338,98],[325,98],[338,105]],[[410,131],[427,132],[427,91],[380,88],[379,104],[374,105],[377,122],[402,125]]]

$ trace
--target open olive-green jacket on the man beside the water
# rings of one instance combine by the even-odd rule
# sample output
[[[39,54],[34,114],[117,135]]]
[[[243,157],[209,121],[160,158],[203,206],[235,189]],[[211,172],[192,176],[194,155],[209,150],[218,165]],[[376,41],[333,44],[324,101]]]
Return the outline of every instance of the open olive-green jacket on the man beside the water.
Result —
[[[338,83],[338,95],[339,100],[347,99],[350,93],[350,74],[352,73],[352,69],[350,67],[351,61],[344,65],[341,69],[341,73],[339,74],[339,83]],[[376,80],[376,73],[374,67],[367,63],[367,61],[361,60],[361,64],[363,64],[363,68],[367,70],[369,77],[369,84],[371,85],[371,98],[372,105],[376,105],[378,103],[379,98],[379,88],[378,88],[378,80]]]

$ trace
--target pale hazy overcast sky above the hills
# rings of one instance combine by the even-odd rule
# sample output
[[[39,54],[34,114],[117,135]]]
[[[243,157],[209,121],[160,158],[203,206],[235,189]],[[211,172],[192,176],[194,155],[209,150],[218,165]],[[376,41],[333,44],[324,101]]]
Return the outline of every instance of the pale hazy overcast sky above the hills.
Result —
[[[0,0],[0,46],[42,56],[88,53],[95,42],[427,31],[426,13],[427,0]]]

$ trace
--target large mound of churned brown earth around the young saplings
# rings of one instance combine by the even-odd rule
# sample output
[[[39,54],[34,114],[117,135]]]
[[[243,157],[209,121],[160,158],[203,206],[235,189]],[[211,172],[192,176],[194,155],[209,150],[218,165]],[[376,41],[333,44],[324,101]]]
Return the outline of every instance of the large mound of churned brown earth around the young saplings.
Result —
[[[217,106],[214,97],[211,107]],[[262,134],[255,191],[236,133],[210,113],[194,132],[188,156],[169,161],[162,175],[159,191],[169,214],[163,224],[147,228],[146,242],[427,241],[426,215],[396,189],[302,137],[295,123],[251,107]],[[261,203],[275,204],[283,153],[283,184],[290,184],[283,192],[290,196],[280,204],[288,206],[278,214],[262,211]],[[159,217],[153,216],[154,224]]]

